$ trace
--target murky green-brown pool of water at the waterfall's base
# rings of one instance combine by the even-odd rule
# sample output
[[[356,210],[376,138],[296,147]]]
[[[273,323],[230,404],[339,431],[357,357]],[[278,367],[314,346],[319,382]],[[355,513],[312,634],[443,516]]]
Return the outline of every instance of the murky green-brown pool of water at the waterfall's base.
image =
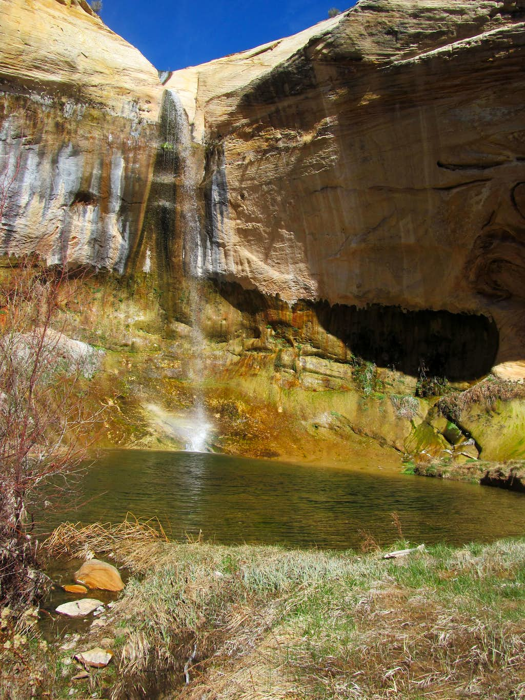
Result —
[[[370,533],[381,545],[462,544],[525,533],[525,496],[488,486],[367,470],[290,465],[190,452],[109,450],[77,484],[77,503],[47,514],[122,521],[158,517],[174,539],[356,548]]]

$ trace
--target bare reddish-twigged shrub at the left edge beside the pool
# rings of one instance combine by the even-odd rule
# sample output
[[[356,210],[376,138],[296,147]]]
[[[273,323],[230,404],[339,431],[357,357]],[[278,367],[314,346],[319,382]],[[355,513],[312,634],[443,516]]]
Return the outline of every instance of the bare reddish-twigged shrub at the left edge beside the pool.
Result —
[[[40,269],[29,261],[3,272],[0,605],[12,605],[31,603],[45,591],[37,541],[31,536],[34,510],[53,480],[55,488],[65,489],[64,477],[85,457],[97,416],[85,411],[78,394],[80,377],[93,370],[86,365],[93,365],[92,354],[83,351],[89,346],[52,328],[68,293],[66,272]]]

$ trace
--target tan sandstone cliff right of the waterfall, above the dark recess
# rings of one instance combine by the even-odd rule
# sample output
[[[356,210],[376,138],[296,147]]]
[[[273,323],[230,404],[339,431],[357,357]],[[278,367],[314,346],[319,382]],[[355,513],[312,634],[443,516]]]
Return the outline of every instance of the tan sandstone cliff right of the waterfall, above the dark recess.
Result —
[[[524,8],[361,1],[174,73],[207,144],[207,272],[288,302],[496,318],[523,359]]]

